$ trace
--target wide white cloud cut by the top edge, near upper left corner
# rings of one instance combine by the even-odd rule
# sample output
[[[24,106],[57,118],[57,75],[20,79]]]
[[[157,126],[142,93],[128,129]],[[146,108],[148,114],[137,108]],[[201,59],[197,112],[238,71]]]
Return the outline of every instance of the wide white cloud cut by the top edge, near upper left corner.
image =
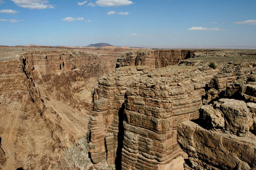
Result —
[[[48,4],[46,0],[12,0],[16,5],[29,9],[46,9],[54,8],[55,5]]]

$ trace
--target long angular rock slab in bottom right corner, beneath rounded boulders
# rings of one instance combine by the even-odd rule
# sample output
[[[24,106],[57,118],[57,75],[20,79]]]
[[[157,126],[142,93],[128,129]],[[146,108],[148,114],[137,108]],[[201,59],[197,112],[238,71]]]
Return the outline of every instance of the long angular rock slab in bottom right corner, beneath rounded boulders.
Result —
[[[256,141],[253,139],[207,130],[191,121],[178,126],[177,139],[189,156],[185,169],[256,168]]]

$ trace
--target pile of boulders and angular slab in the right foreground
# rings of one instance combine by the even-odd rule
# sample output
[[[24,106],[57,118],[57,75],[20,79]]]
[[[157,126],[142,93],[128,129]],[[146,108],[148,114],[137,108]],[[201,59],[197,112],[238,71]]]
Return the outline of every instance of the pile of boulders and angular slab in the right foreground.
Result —
[[[217,101],[200,108],[199,120],[178,126],[177,141],[188,154],[185,169],[256,169],[255,71],[240,69],[244,74],[234,71],[237,79],[223,86]]]

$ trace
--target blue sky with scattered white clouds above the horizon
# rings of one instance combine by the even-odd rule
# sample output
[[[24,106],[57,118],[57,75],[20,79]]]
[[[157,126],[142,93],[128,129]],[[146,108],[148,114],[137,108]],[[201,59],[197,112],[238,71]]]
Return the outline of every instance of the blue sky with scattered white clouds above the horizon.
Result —
[[[0,45],[256,48],[256,0],[0,0]]]

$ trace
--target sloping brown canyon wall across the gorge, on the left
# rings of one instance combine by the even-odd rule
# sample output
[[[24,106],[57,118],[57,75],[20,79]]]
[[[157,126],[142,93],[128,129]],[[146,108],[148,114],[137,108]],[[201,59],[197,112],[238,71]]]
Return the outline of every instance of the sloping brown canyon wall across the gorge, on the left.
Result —
[[[71,50],[4,54],[0,168],[59,166],[64,151],[86,134],[91,89],[114,70],[118,55]]]

